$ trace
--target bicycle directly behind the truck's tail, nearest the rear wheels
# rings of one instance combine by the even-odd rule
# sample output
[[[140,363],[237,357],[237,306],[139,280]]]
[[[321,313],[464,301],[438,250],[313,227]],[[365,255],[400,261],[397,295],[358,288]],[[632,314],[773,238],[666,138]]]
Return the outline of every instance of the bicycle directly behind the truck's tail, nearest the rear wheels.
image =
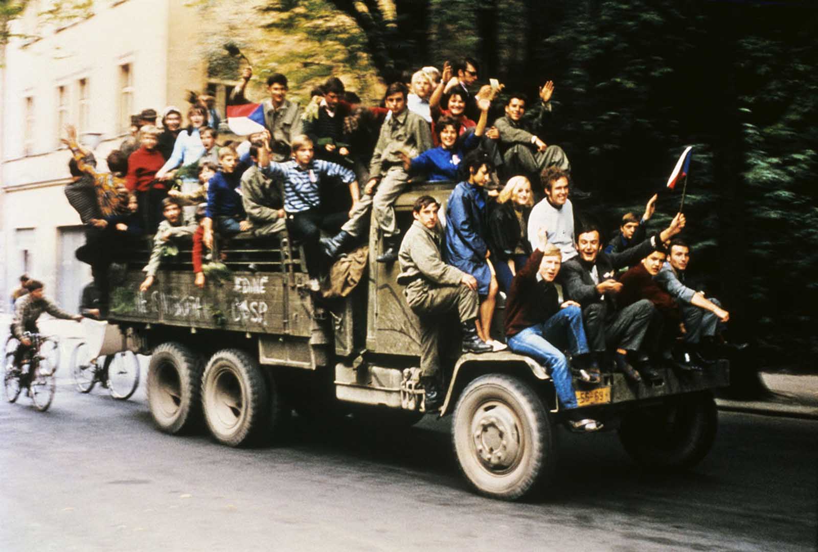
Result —
[[[101,361],[102,358],[105,360]],[[79,393],[90,393],[95,385],[101,384],[111,397],[124,401],[139,386],[139,359],[132,351],[92,358],[88,343],[83,341],[71,352],[71,375]]]

